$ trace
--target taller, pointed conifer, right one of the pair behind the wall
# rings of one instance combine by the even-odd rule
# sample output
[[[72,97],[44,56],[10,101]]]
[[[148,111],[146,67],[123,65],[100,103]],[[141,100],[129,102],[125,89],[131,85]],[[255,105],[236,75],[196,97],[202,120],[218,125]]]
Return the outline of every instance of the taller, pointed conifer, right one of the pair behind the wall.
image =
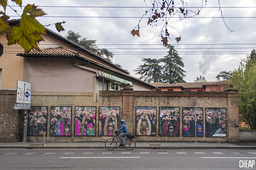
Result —
[[[168,45],[166,46],[169,51],[168,55],[164,56],[164,82],[185,82],[183,78],[185,77],[185,72],[182,68],[184,67],[184,63],[182,58],[178,55],[177,51],[174,49],[174,46]]]

